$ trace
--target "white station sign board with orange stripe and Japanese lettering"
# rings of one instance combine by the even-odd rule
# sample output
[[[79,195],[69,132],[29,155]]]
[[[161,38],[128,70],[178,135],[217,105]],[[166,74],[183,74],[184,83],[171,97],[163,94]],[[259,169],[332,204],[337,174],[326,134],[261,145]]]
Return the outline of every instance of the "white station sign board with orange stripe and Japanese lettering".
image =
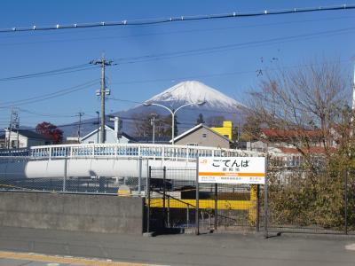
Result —
[[[264,157],[200,157],[199,183],[264,184]]]

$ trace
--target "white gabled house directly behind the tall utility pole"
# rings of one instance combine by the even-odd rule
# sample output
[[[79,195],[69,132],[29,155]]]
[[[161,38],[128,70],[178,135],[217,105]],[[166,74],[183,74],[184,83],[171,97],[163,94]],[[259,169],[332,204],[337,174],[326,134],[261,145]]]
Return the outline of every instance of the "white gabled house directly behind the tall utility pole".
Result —
[[[91,131],[86,136],[80,139],[82,144],[97,144],[100,142],[101,127]],[[67,141],[77,139],[77,137],[67,137]],[[126,133],[119,133],[117,129],[111,126],[105,125],[105,143],[130,143],[134,142],[134,138],[130,137]]]

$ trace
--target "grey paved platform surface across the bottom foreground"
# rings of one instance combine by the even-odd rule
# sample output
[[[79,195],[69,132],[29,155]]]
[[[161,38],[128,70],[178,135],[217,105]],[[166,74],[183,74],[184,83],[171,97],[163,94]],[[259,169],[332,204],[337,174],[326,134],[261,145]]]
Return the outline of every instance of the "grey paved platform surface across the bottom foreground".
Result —
[[[0,250],[163,265],[355,266],[354,236],[285,235],[263,239],[253,234],[213,233],[149,238],[3,227]],[[17,265],[4,260],[0,259],[0,265]]]

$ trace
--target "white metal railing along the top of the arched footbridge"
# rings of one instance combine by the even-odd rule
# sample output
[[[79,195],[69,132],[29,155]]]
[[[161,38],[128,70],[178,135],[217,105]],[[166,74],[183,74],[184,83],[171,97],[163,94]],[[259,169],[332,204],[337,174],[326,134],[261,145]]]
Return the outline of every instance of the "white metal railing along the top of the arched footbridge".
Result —
[[[197,156],[262,156],[264,153],[186,145],[91,144],[45,145],[27,149],[0,150],[0,157],[51,158],[149,158],[157,160],[196,160]]]

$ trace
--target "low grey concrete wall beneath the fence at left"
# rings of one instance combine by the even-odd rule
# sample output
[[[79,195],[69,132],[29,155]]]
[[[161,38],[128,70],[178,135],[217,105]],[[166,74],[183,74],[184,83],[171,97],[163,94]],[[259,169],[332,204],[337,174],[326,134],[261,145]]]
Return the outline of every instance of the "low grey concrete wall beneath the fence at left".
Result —
[[[0,226],[141,234],[143,199],[0,192]]]

